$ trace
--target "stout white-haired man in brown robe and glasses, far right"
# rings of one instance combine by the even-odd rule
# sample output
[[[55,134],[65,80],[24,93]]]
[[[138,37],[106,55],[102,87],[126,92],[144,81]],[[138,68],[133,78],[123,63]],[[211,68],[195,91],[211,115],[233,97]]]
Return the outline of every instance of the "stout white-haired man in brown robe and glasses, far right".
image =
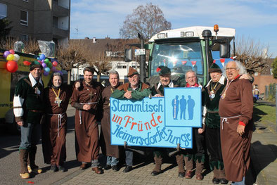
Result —
[[[244,73],[239,61],[227,63],[224,76],[228,82],[219,101],[221,151],[226,179],[233,184],[245,184],[250,165],[253,97],[250,81],[239,79]]]

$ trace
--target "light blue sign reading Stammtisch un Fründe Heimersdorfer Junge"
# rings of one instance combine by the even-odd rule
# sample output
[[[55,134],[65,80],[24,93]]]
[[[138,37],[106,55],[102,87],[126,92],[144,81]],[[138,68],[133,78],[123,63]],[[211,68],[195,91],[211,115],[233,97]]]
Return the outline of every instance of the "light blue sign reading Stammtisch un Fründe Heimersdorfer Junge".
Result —
[[[165,93],[165,97],[141,101],[110,98],[111,144],[123,146],[126,141],[128,146],[176,148],[179,143],[181,148],[192,148],[192,127],[200,127],[202,120],[201,91],[199,88],[167,88]],[[179,119],[181,111],[175,113],[179,117],[174,119],[172,105],[176,110],[176,103],[172,102],[176,102],[176,94],[185,94],[188,104],[188,93],[193,93],[191,98],[195,101],[192,119]],[[189,118],[188,106],[185,112]]]

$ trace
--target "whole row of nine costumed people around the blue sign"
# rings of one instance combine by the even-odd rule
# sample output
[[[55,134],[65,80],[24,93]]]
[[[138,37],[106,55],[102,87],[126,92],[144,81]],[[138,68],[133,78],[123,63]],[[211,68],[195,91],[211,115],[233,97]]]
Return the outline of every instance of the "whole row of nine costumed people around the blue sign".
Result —
[[[197,74],[188,70],[186,83],[171,79],[171,70],[159,66],[160,82],[150,85],[141,82],[139,72],[129,68],[129,82],[120,84],[120,76],[110,71],[108,87],[93,81],[94,68],[84,68],[84,80],[73,86],[63,84],[60,73],[53,73],[48,87],[41,81],[41,65],[32,63],[30,75],[20,79],[15,88],[13,101],[16,122],[21,126],[20,176],[30,177],[30,172],[41,172],[34,163],[37,143],[42,125],[44,162],[51,164],[53,172],[65,172],[66,110],[71,98],[75,113],[75,138],[77,160],[80,169],[91,166],[96,174],[103,170],[120,170],[120,148],[110,143],[110,97],[140,100],[144,97],[164,96],[164,89],[174,87],[202,88],[202,127],[193,128],[193,148],[181,149],[176,153],[179,177],[202,180],[205,156],[210,154],[210,167],[214,173],[213,184],[244,184],[250,165],[250,141],[252,136],[252,77],[238,61],[227,63],[224,71],[218,65],[209,68],[210,82],[204,87],[198,84]],[[41,119],[43,117],[44,119]],[[41,121],[43,120],[43,121]],[[98,162],[98,124],[101,120],[102,151],[107,156],[105,167]],[[41,124],[40,124],[41,121]],[[101,146],[102,147],[102,146]],[[167,155],[165,148],[153,148],[155,167],[151,175],[160,174],[162,159]],[[133,170],[134,150],[124,148],[123,172]],[[186,167],[186,170],[184,169]],[[29,167],[29,169],[28,169]],[[28,171],[29,170],[29,171]]]

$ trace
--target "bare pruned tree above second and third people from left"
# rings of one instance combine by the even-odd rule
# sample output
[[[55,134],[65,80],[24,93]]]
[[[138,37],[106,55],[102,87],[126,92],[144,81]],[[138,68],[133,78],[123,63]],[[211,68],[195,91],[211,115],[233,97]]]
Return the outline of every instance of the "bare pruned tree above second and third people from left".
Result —
[[[72,68],[78,68],[86,63],[86,46],[80,40],[70,40],[68,44],[58,46],[57,58],[60,67],[67,71],[67,84],[70,84]]]

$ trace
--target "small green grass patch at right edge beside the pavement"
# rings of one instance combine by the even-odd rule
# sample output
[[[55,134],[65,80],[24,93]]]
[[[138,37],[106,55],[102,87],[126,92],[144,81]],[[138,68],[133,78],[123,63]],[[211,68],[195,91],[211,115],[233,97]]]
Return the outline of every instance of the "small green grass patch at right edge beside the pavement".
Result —
[[[276,123],[276,106],[266,103],[254,103],[253,118],[255,122],[268,120]]]

